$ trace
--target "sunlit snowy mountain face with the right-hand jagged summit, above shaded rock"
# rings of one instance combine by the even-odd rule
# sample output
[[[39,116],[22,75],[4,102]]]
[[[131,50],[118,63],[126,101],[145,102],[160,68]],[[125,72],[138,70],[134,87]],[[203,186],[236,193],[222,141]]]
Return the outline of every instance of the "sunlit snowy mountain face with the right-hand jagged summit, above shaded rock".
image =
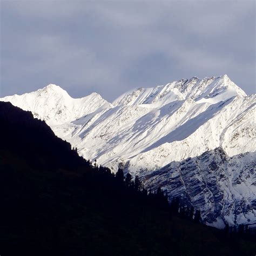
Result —
[[[113,170],[122,162],[131,172],[218,146],[230,156],[255,150],[255,96],[246,96],[227,76],[138,89],[113,105],[52,129],[85,158]]]

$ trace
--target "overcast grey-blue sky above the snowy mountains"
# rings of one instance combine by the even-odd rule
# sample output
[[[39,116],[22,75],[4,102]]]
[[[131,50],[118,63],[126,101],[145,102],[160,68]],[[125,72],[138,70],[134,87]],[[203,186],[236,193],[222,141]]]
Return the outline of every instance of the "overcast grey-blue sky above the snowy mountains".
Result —
[[[112,101],[225,73],[255,93],[255,1],[0,1],[0,96],[57,84]]]

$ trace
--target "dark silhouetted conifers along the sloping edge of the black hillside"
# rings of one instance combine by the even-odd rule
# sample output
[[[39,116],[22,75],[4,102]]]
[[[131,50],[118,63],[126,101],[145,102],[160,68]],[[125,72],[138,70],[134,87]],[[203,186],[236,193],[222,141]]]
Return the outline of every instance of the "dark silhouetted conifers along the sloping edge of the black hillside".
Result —
[[[73,150],[77,151],[77,149]],[[113,183],[114,185],[117,185],[118,190],[126,190],[129,193],[136,193],[137,196],[144,197],[144,200],[151,203],[152,206],[157,206],[158,208],[163,208],[168,211],[170,218],[172,215],[177,215],[181,219],[205,225],[205,221],[201,218],[200,210],[195,210],[192,205],[187,205],[186,202],[179,197],[175,197],[169,201],[167,195],[160,187],[158,187],[156,191],[147,190],[138,175],[132,177],[129,172],[125,175],[121,167],[118,168],[116,173],[113,173],[108,167],[102,165],[98,166],[96,159],[93,163],[90,160],[86,160],[86,164],[91,167],[95,175],[100,174],[100,176],[103,177],[103,180],[107,180],[112,186]],[[220,232],[225,235],[230,234],[231,237],[237,235],[242,238],[250,238],[255,233],[249,225],[241,224],[229,226],[227,223],[225,228],[220,230]]]

